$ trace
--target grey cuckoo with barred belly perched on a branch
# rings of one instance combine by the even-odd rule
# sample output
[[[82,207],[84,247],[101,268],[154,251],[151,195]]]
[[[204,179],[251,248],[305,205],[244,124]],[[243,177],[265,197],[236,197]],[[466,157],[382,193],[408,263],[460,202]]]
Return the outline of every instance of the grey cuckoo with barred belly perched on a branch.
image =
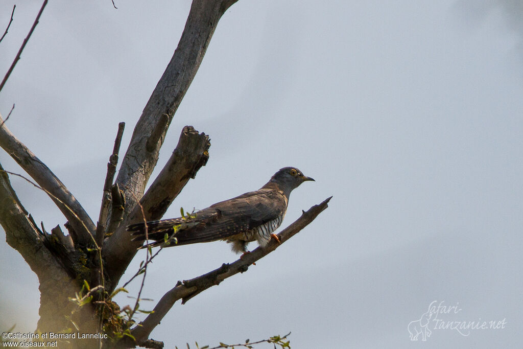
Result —
[[[127,230],[133,241],[153,240],[141,248],[177,246],[197,242],[226,240],[236,253],[247,252],[247,244],[267,245],[283,221],[289,195],[305,181],[298,168],[283,167],[263,187],[235,198],[218,202],[184,217],[132,224]],[[182,213],[183,215],[183,213]]]

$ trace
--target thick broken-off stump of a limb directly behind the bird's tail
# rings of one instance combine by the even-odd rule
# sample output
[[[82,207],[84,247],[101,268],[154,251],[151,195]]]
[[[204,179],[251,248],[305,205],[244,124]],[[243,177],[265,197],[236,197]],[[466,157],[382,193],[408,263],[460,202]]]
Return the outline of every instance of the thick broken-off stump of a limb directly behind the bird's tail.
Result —
[[[116,281],[136,254],[137,248],[142,244],[130,241],[131,237],[126,227],[144,218],[145,220],[161,218],[189,179],[194,178],[199,168],[207,163],[209,147],[209,136],[203,132],[198,133],[192,126],[184,127],[178,145],[167,164],[140,200],[141,207],[135,206],[120,227],[106,239],[104,256],[107,271],[112,276],[113,288],[116,287]],[[118,278],[115,278],[115,275]]]

